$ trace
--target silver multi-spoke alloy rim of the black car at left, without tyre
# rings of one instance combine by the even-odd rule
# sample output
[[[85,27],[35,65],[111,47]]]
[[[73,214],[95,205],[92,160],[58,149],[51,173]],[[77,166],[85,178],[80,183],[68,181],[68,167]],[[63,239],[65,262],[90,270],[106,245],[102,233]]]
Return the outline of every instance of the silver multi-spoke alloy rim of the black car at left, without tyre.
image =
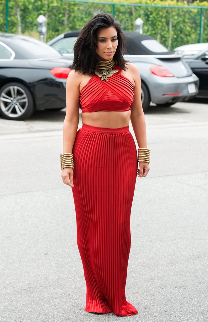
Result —
[[[18,86],[6,87],[0,96],[0,108],[9,117],[19,117],[28,107],[28,98],[25,91]]]

